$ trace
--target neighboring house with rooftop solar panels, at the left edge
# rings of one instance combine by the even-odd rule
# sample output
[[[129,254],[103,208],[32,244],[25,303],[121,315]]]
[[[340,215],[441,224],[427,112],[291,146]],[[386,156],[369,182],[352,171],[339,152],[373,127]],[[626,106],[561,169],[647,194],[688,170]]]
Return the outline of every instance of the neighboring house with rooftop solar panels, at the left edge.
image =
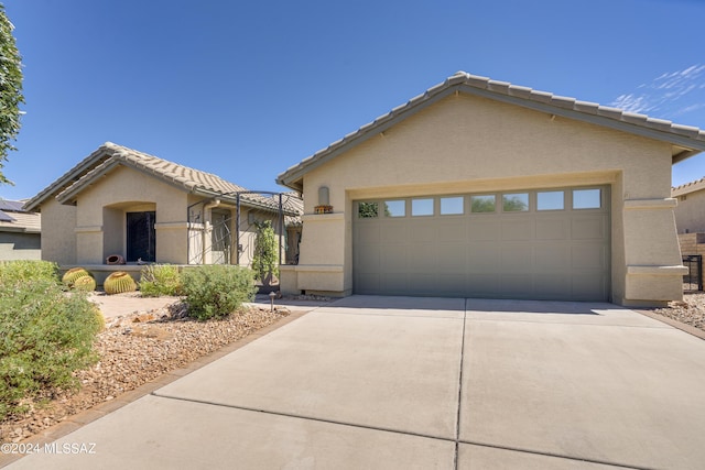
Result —
[[[0,198],[0,261],[42,258],[42,217],[23,200]]]

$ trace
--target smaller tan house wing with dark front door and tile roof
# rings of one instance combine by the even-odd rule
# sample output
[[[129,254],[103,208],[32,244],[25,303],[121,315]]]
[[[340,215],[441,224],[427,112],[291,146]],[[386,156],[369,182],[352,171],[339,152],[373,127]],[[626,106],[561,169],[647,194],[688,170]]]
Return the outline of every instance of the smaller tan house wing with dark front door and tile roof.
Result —
[[[116,270],[113,263],[134,276],[150,262],[248,265],[254,225],[262,220],[282,234],[284,259],[283,221],[295,237],[300,206],[292,193],[249,192],[110,142],[26,204],[44,221],[42,259],[87,267],[99,282]]]

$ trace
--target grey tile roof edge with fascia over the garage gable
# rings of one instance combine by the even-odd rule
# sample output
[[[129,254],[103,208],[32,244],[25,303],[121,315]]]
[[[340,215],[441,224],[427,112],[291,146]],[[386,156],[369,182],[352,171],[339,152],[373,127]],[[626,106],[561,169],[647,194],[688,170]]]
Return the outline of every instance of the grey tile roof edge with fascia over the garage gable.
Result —
[[[671,121],[653,119],[646,114],[539,91],[507,81],[497,81],[488,77],[470,75],[466,72],[457,72],[442,84],[429,88],[387,114],[380,116],[375,121],[345,135],[326,149],[291,166],[278,176],[276,182],[301,190],[301,178],[308,171],[456,91],[665,141],[673,144],[674,163],[705,151],[705,131],[695,127],[675,124]]]

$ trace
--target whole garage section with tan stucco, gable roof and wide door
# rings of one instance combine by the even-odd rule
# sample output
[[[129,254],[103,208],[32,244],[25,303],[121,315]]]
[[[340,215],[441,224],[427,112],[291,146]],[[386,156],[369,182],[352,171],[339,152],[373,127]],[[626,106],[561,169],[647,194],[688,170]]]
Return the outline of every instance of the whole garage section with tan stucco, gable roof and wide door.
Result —
[[[288,292],[682,298],[671,166],[705,132],[459,72],[290,167]]]

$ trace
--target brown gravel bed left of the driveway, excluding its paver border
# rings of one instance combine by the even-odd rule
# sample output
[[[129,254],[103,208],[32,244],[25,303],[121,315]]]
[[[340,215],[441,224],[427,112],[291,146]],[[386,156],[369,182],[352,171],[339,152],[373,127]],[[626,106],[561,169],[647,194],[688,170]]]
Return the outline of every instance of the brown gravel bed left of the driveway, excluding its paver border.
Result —
[[[98,335],[100,362],[79,371],[78,393],[59,392],[31,403],[24,416],[0,423],[0,442],[17,442],[61,423],[72,415],[183,368],[226,345],[288,316],[278,308],[243,308],[223,320],[195,321],[183,303],[150,311],[109,318]]]

